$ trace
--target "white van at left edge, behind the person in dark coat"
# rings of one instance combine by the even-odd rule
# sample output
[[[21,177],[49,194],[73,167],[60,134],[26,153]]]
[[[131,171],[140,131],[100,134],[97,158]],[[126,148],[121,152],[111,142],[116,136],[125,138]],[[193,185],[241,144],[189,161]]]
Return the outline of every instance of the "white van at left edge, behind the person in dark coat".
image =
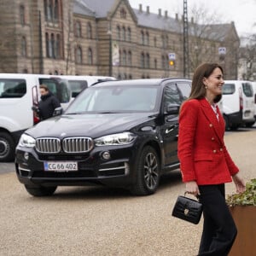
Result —
[[[46,84],[63,109],[71,101],[67,80],[44,74],[0,73],[0,161],[14,160],[15,145],[27,128],[38,123],[39,84]]]

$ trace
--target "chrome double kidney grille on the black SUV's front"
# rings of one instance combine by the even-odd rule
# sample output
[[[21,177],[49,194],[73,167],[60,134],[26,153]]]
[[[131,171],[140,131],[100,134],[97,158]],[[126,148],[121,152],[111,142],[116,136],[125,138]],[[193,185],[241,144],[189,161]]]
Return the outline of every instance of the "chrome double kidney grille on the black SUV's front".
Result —
[[[67,137],[61,140],[54,137],[40,137],[36,140],[38,153],[60,153],[61,148],[65,153],[86,153],[93,148],[90,137]]]

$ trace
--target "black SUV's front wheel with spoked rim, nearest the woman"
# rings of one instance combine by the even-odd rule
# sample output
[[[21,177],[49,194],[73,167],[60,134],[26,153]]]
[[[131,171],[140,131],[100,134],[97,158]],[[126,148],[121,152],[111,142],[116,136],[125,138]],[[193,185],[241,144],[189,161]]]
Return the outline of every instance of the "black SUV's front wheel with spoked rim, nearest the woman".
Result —
[[[131,187],[133,195],[154,194],[160,182],[160,160],[159,156],[150,146],[143,148],[137,160],[137,181]]]

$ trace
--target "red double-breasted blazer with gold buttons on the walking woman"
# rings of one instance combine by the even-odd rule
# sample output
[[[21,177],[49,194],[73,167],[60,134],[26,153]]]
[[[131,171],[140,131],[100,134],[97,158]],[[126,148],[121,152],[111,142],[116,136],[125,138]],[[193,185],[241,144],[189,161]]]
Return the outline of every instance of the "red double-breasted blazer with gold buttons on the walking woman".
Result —
[[[177,153],[183,182],[231,182],[239,172],[224,145],[224,118],[206,99],[184,102],[179,115]]]

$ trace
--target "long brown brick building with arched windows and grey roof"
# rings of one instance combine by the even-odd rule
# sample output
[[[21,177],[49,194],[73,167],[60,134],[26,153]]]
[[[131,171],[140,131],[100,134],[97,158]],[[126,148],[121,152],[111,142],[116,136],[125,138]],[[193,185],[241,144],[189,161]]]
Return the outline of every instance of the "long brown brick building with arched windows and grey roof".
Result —
[[[2,0],[0,6],[1,73],[183,77],[178,15],[153,14],[142,4],[132,9],[127,0]],[[236,79],[238,49],[233,23],[189,20],[190,77],[201,62],[215,61]]]

